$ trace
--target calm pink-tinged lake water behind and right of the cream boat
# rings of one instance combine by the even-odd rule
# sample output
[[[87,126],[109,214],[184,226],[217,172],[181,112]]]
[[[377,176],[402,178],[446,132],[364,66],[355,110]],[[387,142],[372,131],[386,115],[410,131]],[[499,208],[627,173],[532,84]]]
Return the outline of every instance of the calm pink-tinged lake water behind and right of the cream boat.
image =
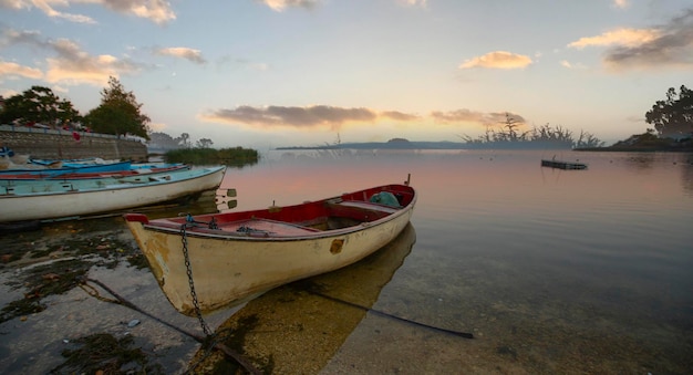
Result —
[[[277,150],[224,186],[249,209],[407,174],[416,242],[374,308],[476,338],[369,315],[323,373],[693,368],[693,155]]]

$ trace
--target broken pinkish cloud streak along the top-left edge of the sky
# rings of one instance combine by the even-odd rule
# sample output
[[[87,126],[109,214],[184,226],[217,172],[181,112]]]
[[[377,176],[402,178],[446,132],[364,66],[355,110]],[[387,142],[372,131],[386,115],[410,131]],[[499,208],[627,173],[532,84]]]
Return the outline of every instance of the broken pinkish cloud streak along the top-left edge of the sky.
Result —
[[[37,8],[50,18],[76,23],[96,23],[87,15],[60,12],[56,7],[70,8],[72,4],[95,3],[123,14],[148,19],[157,24],[176,19],[170,4],[164,0],[0,0],[0,8],[12,10],[31,10]]]

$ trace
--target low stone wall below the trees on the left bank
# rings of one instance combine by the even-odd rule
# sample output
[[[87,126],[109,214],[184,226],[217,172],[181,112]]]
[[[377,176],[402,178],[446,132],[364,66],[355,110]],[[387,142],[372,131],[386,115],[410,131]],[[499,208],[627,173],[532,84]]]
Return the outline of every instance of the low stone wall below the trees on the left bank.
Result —
[[[85,132],[77,134],[79,140],[72,132],[3,125],[0,127],[0,146],[35,159],[147,159],[147,147],[138,140]]]

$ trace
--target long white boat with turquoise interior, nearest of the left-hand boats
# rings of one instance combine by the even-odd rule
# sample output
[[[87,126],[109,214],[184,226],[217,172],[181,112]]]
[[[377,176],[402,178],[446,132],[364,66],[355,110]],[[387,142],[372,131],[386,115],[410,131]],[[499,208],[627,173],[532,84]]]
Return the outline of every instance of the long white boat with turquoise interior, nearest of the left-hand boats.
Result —
[[[79,217],[173,201],[216,189],[226,167],[152,176],[0,181],[0,222]]]

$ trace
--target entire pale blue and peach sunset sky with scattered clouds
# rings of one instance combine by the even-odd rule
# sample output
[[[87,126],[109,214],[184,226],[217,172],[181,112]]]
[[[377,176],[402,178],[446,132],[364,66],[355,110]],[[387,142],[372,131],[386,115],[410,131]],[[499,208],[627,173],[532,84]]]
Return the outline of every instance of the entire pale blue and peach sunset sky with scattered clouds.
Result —
[[[693,2],[0,0],[0,95],[84,115],[110,76],[217,148],[463,142],[506,114],[612,144],[693,86]]]

